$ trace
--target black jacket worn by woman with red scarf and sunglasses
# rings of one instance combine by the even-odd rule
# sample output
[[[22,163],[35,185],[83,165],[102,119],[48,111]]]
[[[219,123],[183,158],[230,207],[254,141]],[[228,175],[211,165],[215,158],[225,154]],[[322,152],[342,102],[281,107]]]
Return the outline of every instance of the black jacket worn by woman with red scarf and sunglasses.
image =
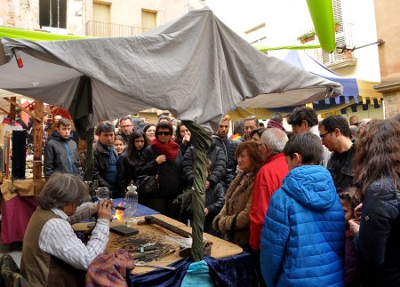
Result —
[[[168,160],[158,164],[156,162],[158,154],[153,147],[146,147],[143,151],[136,170],[137,175],[156,175],[158,172],[158,196],[160,198],[175,198],[182,191],[182,155],[180,151],[173,162]]]

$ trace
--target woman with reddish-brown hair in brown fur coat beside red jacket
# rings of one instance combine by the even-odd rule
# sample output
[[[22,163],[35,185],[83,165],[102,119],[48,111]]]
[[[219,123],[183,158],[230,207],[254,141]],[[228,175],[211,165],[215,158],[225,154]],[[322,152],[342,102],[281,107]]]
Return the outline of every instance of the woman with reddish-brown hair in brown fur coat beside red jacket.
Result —
[[[236,159],[240,172],[227,190],[225,204],[212,226],[228,236],[228,240],[250,250],[250,206],[252,204],[252,186],[262,165],[260,144],[248,140],[236,148]]]

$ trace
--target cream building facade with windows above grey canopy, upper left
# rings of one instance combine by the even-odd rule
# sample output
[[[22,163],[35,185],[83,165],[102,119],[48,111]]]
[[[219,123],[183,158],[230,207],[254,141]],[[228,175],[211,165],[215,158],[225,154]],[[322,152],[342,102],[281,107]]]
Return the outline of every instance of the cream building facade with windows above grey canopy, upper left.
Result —
[[[0,26],[80,36],[138,36],[202,0],[12,0],[0,2]]]

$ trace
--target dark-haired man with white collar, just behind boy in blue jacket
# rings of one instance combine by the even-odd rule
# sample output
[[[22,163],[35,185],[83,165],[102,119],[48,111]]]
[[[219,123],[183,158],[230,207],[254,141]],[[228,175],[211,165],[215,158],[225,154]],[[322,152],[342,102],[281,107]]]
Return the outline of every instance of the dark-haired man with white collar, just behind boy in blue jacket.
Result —
[[[287,123],[292,125],[293,133],[312,132],[319,136],[318,132],[318,117],[314,108],[305,106],[293,109],[292,113],[287,118]],[[328,165],[331,152],[328,148],[324,147],[323,159],[321,165],[326,167]]]

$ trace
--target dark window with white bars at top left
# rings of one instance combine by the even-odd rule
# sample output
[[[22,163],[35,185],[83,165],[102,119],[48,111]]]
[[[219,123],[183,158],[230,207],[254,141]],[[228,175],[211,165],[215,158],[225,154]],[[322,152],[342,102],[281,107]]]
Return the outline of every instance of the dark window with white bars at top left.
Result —
[[[40,0],[39,25],[67,28],[67,0]]]

